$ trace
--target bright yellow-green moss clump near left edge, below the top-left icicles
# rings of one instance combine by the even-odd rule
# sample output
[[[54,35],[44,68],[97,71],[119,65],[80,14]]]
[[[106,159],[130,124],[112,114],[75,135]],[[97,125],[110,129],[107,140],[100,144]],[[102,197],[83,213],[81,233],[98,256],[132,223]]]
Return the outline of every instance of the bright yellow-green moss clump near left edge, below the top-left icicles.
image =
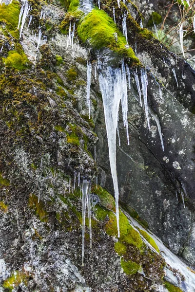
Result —
[[[7,58],[4,58],[4,62],[5,66],[19,71],[27,69],[28,67],[27,56],[24,53],[19,54],[16,51],[9,51]]]

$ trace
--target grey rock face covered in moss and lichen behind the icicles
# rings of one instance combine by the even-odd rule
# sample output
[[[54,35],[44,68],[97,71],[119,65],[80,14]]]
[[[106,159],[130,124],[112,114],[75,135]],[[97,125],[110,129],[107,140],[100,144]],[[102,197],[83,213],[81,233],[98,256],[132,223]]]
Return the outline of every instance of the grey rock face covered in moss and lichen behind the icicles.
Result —
[[[117,26],[108,18],[109,28],[117,30],[120,45],[116,35],[111,35],[110,43],[105,45],[101,39],[104,45],[98,48],[92,37],[81,41],[85,38],[81,34],[84,14],[88,15],[98,4],[96,1],[80,1],[79,10],[75,1],[29,0],[31,9],[21,38],[18,21],[26,1],[2,2],[0,292],[195,291],[193,270],[188,270],[143,227],[149,227],[174,253],[194,264],[192,68],[161,47],[151,32],[138,26],[137,8],[131,1],[127,6],[121,2],[119,9],[117,1],[111,5],[102,0],[103,20],[113,16],[115,6]],[[137,43],[137,55],[120,33],[120,19],[127,10],[132,15],[127,18],[128,42],[132,48]],[[148,104],[155,118],[150,116],[149,131],[145,112],[137,101],[135,80],[131,78],[130,146],[120,111],[117,173],[121,206],[142,225],[120,210],[117,238],[96,65],[99,58],[118,68],[123,57],[131,66],[132,76],[136,69],[139,75],[140,68],[150,67]],[[92,64],[90,119],[87,61]],[[165,151],[155,119],[160,122]],[[98,184],[110,193],[96,186],[96,176]],[[82,266],[84,179],[92,181],[92,249],[86,218]]]

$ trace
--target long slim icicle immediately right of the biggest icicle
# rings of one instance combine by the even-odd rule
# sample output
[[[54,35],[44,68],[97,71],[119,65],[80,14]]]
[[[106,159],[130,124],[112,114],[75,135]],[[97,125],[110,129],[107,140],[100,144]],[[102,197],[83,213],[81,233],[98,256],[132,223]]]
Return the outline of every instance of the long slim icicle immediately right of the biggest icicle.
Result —
[[[127,79],[126,79],[126,72],[125,72],[125,65],[124,60],[122,60],[122,84],[121,87],[123,88],[122,96],[121,96],[121,105],[122,105],[122,116],[123,116],[123,124],[126,127],[127,132],[127,144],[129,145],[129,133],[128,133],[128,101],[127,101]]]

